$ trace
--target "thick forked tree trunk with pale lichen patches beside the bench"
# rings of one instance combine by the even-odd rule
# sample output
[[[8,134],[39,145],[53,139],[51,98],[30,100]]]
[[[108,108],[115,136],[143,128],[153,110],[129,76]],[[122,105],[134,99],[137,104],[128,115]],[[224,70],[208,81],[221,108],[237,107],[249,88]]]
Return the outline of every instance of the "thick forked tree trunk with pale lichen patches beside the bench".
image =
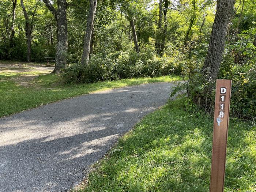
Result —
[[[68,55],[68,27],[67,27],[67,1],[57,0],[57,10],[49,0],[43,0],[46,7],[52,12],[57,22],[57,46],[55,68],[53,72],[59,73],[67,65]]]

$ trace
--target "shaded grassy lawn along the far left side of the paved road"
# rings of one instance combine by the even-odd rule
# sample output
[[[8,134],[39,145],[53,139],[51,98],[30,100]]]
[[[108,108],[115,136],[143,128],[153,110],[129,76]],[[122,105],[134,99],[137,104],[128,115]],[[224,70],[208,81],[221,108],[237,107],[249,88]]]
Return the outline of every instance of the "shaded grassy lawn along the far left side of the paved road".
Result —
[[[6,65],[6,63],[3,64]],[[5,66],[0,70],[0,117],[95,91],[143,83],[181,80],[179,76],[162,76],[92,84],[63,84],[57,75],[31,67],[31,65],[37,67],[36,64],[20,65],[19,67]]]

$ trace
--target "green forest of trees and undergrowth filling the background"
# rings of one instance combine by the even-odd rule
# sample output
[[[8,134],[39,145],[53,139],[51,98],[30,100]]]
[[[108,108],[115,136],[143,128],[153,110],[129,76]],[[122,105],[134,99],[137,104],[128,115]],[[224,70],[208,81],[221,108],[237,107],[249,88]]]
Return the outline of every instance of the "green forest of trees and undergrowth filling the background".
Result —
[[[96,2],[95,10],[91,9],[92,2]],[[211,112],[214,86],[210,86],[210,92],[206,91],[209,79],[204,60],[216,3],[213,0],[2,0],[0,59],[43,62],[45,57],[56,57],[54,71],[66,83],[182,75],[187,81],[173,93],[185,89],[187,110]],[[90,10],[95,12],[90,15]],[[256,116],[255,10],[255,0],[234,4],[227,20],[223,58],[215,77],[233,80],[231,116],[250,120]],[[90,31],[88,21],[94,14]],[[85,53],[85,46],[89,46],[87,30],[91,32],[89,60]],[[205,97],[206,92],[209,94]]]

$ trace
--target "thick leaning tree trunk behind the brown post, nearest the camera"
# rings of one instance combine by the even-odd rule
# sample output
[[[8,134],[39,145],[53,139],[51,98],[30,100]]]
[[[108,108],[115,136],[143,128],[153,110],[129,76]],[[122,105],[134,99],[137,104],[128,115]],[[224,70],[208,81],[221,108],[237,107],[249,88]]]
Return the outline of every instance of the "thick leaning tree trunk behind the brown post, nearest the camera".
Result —
[[[233,11],[235,0],[217,0],[217,11],[212,26],[210,44],[206,59],[204,61],[203,69],[208,72],[204,72],[207,78],[211,82],[215,82],[219,67],[221,65],[222,54],[224,52],[227,27],[230,20],[231,13]],[[206,88],[206,93],[211,93],[212,84]]]

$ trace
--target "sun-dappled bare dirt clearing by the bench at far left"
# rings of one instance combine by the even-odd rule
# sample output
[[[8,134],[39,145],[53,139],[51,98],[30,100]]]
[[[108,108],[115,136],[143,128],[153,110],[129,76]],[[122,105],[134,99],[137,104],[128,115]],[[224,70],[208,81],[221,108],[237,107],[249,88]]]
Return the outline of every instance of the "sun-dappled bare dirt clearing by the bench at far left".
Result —
[[[0,75],[11,75],[13,77],[8,80],[23,86],[29,86],[31,80],[39,75],[49,74],[53,69],[54,65],[47,66],[46,63],[0,61]]]

